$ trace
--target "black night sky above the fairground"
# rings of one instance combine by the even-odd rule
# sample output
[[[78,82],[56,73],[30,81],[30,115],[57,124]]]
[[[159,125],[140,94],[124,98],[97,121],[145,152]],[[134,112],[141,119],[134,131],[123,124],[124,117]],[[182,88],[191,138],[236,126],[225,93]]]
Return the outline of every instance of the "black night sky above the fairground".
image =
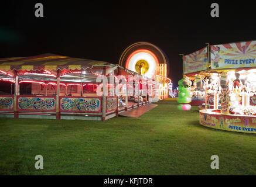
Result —
[[[44,18],[35,17],[37,2]],[[220,18],[210,16],[213,2]],[[0,11],[1,58],[53,53],[116,64],[127,46],[147,41],[165,52],[175,85],[179,53],[256,40],[253,1],[6,1]]]

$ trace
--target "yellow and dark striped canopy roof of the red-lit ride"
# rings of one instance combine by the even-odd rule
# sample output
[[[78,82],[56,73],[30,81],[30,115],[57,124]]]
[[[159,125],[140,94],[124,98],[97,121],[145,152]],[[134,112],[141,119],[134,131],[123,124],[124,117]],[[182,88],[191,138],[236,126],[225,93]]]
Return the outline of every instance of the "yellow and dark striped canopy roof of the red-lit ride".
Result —
[[[0,58],[0,70],[81,70],[95,66],[113,66],[104,61],[88,60],[59,56],[57,54],[40,54],[32,57]]]

